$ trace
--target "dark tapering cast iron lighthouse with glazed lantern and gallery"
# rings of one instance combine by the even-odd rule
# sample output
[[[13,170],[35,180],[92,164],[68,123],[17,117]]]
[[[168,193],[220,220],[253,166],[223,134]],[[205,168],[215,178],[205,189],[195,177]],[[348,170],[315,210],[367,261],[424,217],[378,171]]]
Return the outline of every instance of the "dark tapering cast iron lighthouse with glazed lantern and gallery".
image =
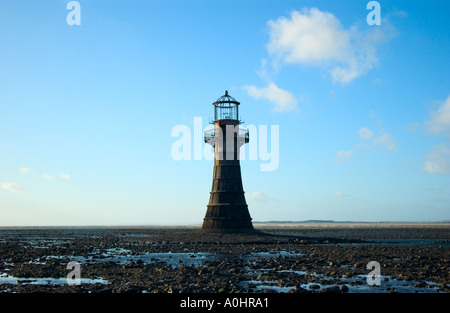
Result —
[[[214,129],[205,131],[205,142],[214,147],[214,173],[203,230],[253,230],[242,186],[240,147],[249,142],[240,128],[239,102],[225,91],[214,105]]]

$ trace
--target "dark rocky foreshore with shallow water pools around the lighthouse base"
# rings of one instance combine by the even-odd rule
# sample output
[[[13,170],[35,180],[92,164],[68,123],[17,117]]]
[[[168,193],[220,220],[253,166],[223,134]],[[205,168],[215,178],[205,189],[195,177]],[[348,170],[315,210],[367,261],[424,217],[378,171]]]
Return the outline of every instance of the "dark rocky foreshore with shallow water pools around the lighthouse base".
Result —
[[[371,261],[380,265],[378,285],[368,283]],[[449,269],[446,227],[0,230],[7,293],[440,293],[450,292]]]

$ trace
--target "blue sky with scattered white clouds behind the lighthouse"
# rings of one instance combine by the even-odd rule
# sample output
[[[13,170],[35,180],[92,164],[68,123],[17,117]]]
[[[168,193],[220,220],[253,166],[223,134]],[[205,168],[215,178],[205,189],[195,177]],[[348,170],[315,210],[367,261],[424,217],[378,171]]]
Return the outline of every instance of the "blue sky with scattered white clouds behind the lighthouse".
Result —
[[[0,2],[0,226],[202,223],[213,163],[171,134],[225,90],[279,127],[254,221],[450,220],[448,1],[68,2]]]

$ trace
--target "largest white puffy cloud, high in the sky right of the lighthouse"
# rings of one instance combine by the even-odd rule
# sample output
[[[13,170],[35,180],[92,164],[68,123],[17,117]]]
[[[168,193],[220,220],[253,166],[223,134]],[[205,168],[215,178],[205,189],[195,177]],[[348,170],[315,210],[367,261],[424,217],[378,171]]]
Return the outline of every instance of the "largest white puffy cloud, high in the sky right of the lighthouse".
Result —
[[[274,66],[305,64],[326,68],[334,82],[349,83],[378,62],[376,45],[387,39],[379,28],[345,29],[333,14],[317,8],[293,11],[269,21],[267,50]],[[391,28],[391,27],[389,27]]]

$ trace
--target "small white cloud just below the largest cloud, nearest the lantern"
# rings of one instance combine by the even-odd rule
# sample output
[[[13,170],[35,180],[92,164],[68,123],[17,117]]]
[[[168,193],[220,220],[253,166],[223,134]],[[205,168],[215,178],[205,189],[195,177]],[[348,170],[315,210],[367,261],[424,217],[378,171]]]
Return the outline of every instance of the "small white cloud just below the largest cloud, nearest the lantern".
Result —
[[[272,102],[275,111],[289,112],[297,107],[297,99],[289,92],[270,82],[265,88],[244,86],[247,93],[255,99],[266,99]]]

